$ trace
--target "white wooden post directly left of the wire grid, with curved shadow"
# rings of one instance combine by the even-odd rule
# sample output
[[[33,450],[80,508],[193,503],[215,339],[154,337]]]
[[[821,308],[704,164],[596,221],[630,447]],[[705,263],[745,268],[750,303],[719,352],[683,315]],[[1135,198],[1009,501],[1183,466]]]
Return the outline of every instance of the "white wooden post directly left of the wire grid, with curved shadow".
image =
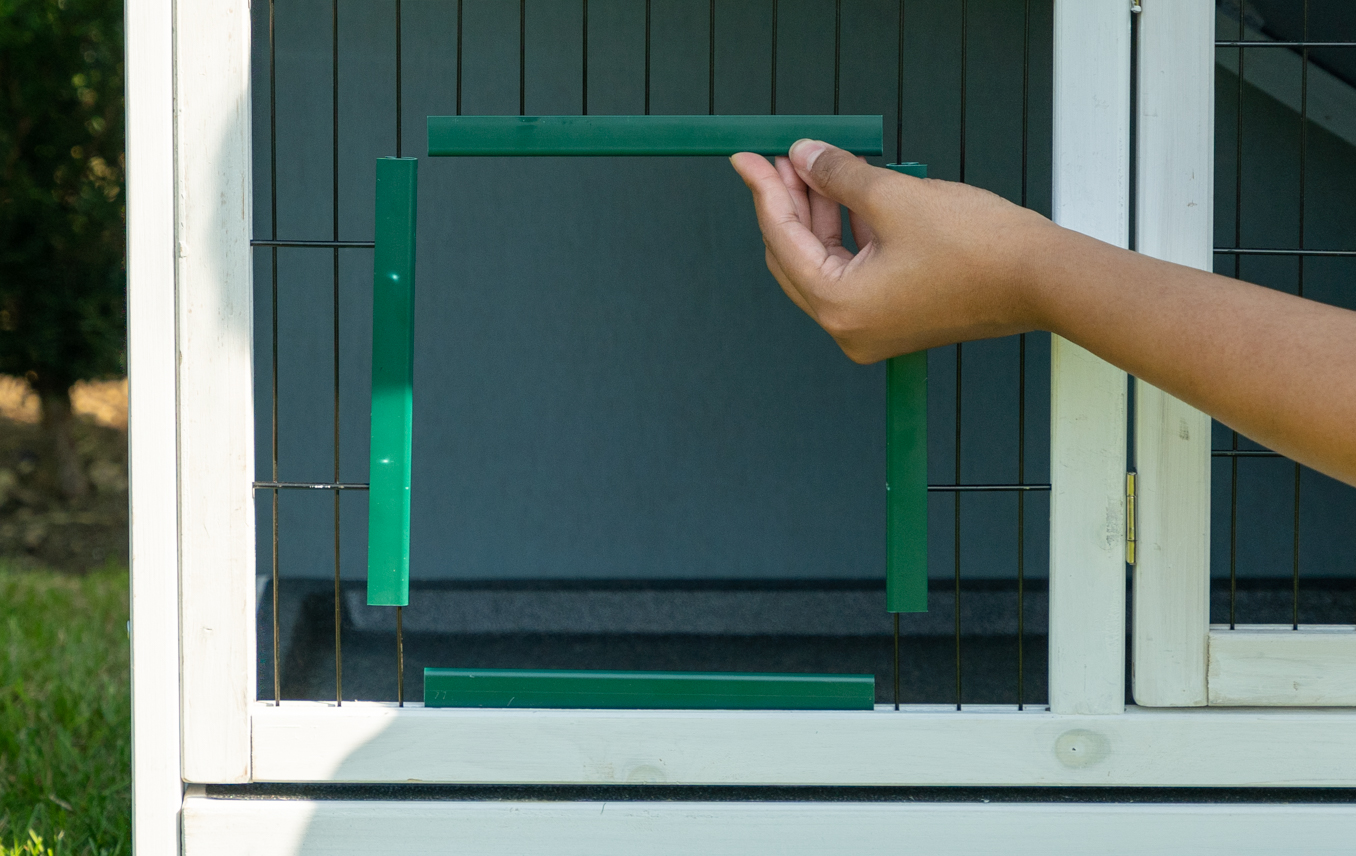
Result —
[[[250,4],[176,0],[183,777],[250,779]]]

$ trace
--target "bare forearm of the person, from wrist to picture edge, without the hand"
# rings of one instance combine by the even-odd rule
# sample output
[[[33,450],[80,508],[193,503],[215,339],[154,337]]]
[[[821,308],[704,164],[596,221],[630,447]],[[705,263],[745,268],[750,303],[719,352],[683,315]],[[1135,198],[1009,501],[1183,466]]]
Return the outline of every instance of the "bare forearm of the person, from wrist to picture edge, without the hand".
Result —
[[[1356,312],[1064,229],[1022,279],[1035,326],[1356,484]]]

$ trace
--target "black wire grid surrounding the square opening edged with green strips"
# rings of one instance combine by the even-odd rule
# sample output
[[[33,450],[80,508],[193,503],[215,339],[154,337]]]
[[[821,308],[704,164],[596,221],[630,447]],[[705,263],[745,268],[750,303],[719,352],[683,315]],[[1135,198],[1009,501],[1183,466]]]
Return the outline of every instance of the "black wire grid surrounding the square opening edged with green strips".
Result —
[[[456,16],[457,16],[457,45],[456,45],[456,113],[461,115],[462,104],[462,14],[465,0],[449,0],[456,3]],[[772,76],[767,98],[769,113],[777,113],[777,7],[778,0],[769,0],[772,4]],[[254,239],[250,241],[251,247],[264,248],[270,252],[271,262],[271,308],[273,308],[273,327],[271,327],[271,353],[273,365],[270,376],[270,480],[255,482],[254,487],[256,490],[267,490],[271,494],[271,541],[273,541],[273,562],[271,562],[271,594],[273,594],[273,703],[282,703],[282,689],[281,689],[281,665],[279,665],[279,612],[278,612],[278,590],[279,590],[279,577],[278,577],[278,497],[279,491],[283,490],[304,490],[304,491],[332,491],[334,497],[334,646],[335,646],[335,704],[343,704],[343,658],[342,658],[342,624],[340,624],[340,604],[342,604],[342,590],[340,590],[340,495],[346,491],[365,491],[367,490],[366,483],[354,482],[340,482],[339,480],[339,254],[343,250],[370,250],[374,247],[374,241],[362,240],[340,240],[339,237],[339,1],[331,0],[330,7],[330,27],[331,27],[331,62],[332,62],[332,77],[331,77],[331,100],[332,100],[332,168],[331,168],[331,189],[332,189],[332,235],[330,240],[292,240],[278,237],[278,140],[277,140],[277,41],[275,41],[275,4],[277,0],[268,1],[268,180],[270,180],[270,232],[267,239]],[[644,0],[645,4],[645,52],[644,52],[644,111],[650,114],[650,56],[651,56],[651,0]],[[960,133],[959,133],[959,152],[960,152],[960,167],[959,167],[959,180],[965,180],[965,144],[967,144],[967,65],[968,65],[968,42],[970,42],[970,9],[968,0],[959,0],[960,5]],[[899,62],[898,62],[898,91],[896,91],[896,149],[895,161],[902,163],[904,157],[903,152],[903,110],[904,110],[904,3],[899,0],[898,3],[898,45],[899,45]],[[395,106],[396,106],[396,156],[403,155],[401,147],[401,24],[400,24],[401,0],[395,0],[395,18],[396,18],[396,35],[395,35]],[[709,43],[708,43],[708,113],[716,113],[716,0],[709,0]],[[589,0],[580,0],[580,15],[582,15],[582,87],[579,96],[579,111],[582,115],[589,114]],[[519,0],[518,4],[518,113],[519,115],[526,114],[526,20],[527,9],[526,0]],[[1028,203],[1028,155],[1029,155],[1029,100],[1031,100],[1031,20],[1032,20],[1032,7],[1031,0],[1024,0],[1022,3],[1022,77],[1021,77],[1021,190],[1020,202],[1021,205]],[[1268,42],[1271,45],[1271,42]],[[842,0],[835,0],[834,3],[834,113],[839,109],[839,84],[841,84],[841,65],[842,65]],[[334,365],[334,476],[330,482],[281,482],[278,478],[278,250],[279,248],[301,248],[301,250],[330,250],[334,254],[334,284],[331,293],[331,312],[332,312],[332,365]],[[1237,251],[1248,252],[1248,251]],[[1253,252],[1292,252],[1292,251],[1253,251]],[[1353,254],[1356,255],[1356,254]],[[961,525],[960,525],[960,510],[961,510],[961,495],[968,492],[1012,492],[1016,495],[1017,501],[1017,709],[1024,709],[1025,701],[1025,501],[1026,494],[1032,491],[1048,492],[1051,486],[1048,483],[1028,483],[1026,479],[1026,461],[1025,461],[1025,438],[1026,438],[1026,334],[1018,336],[1018,421],[1017,421],[1017,482],[1006,484],[963,484],[961,483],[961,396],[960,389],[963,387],[963,372],[964,372],[964,349],[963,346],[956,346],[956,414],[955,414],[955,442],[956,442],[956,457],[955,457],[955,480],[949,484],[929,484],[928,490],[932,492],[951,494],[953,497],[953,549],[955,549],[955,658],[956,658],[956,709],[961,709]],[[1296,476],[1298,478],[1298,476]],[[396,669],[396,686],[397,686],[397,703],[404,705],[404,632],[401,623],[401,608],[396,606],[396,651],[395,651],[395,669]],[[895,616],[895,686],[894,686],[894,705],[899,709],[899,619]]]

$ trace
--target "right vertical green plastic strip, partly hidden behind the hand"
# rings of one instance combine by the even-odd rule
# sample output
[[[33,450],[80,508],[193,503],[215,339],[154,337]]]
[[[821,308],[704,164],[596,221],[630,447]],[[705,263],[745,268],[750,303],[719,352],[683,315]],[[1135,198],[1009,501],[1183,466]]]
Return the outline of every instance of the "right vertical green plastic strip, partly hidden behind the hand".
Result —
[[[928,164],[890,164],[928,178]],[[928,612],[928,351],[885,364],[885,609]]]

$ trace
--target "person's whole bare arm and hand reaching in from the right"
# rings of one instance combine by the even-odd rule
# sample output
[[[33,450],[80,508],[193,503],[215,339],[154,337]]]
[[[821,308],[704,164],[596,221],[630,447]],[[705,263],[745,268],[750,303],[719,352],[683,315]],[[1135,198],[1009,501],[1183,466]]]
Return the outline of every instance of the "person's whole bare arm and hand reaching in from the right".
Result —
[[[797,142],[776,167],[731,160],[769,270],[857,362],[1048,330],[1356,484],[1356,312],[1120,250],[822,142]]]

